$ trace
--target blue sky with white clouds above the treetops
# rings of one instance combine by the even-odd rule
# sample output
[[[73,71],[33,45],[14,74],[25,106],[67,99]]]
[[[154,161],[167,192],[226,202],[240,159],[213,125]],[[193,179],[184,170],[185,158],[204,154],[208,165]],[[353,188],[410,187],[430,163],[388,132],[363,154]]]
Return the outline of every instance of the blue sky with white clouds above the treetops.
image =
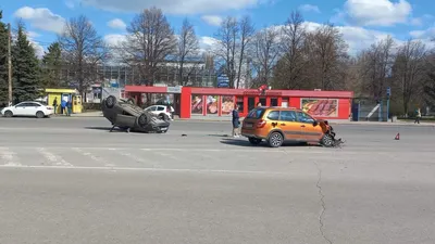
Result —
[[[126,26],[144,9],[163,10],[175,33],[187,17],[196,28],[201,48],[213,46],[223,17],[251,16],[257,29],[283,25],[299,10],[309,29],[323,23],[337,26],[357,53],[390,35],[397,43],[420,39],[433,44],[435,37],[433,0],[15,0],[1,1],[3,22],[26,25],[28,37],[42,55],[57,40],[63,23],[86,15],[99,35],[114,44],[123,39]]]

